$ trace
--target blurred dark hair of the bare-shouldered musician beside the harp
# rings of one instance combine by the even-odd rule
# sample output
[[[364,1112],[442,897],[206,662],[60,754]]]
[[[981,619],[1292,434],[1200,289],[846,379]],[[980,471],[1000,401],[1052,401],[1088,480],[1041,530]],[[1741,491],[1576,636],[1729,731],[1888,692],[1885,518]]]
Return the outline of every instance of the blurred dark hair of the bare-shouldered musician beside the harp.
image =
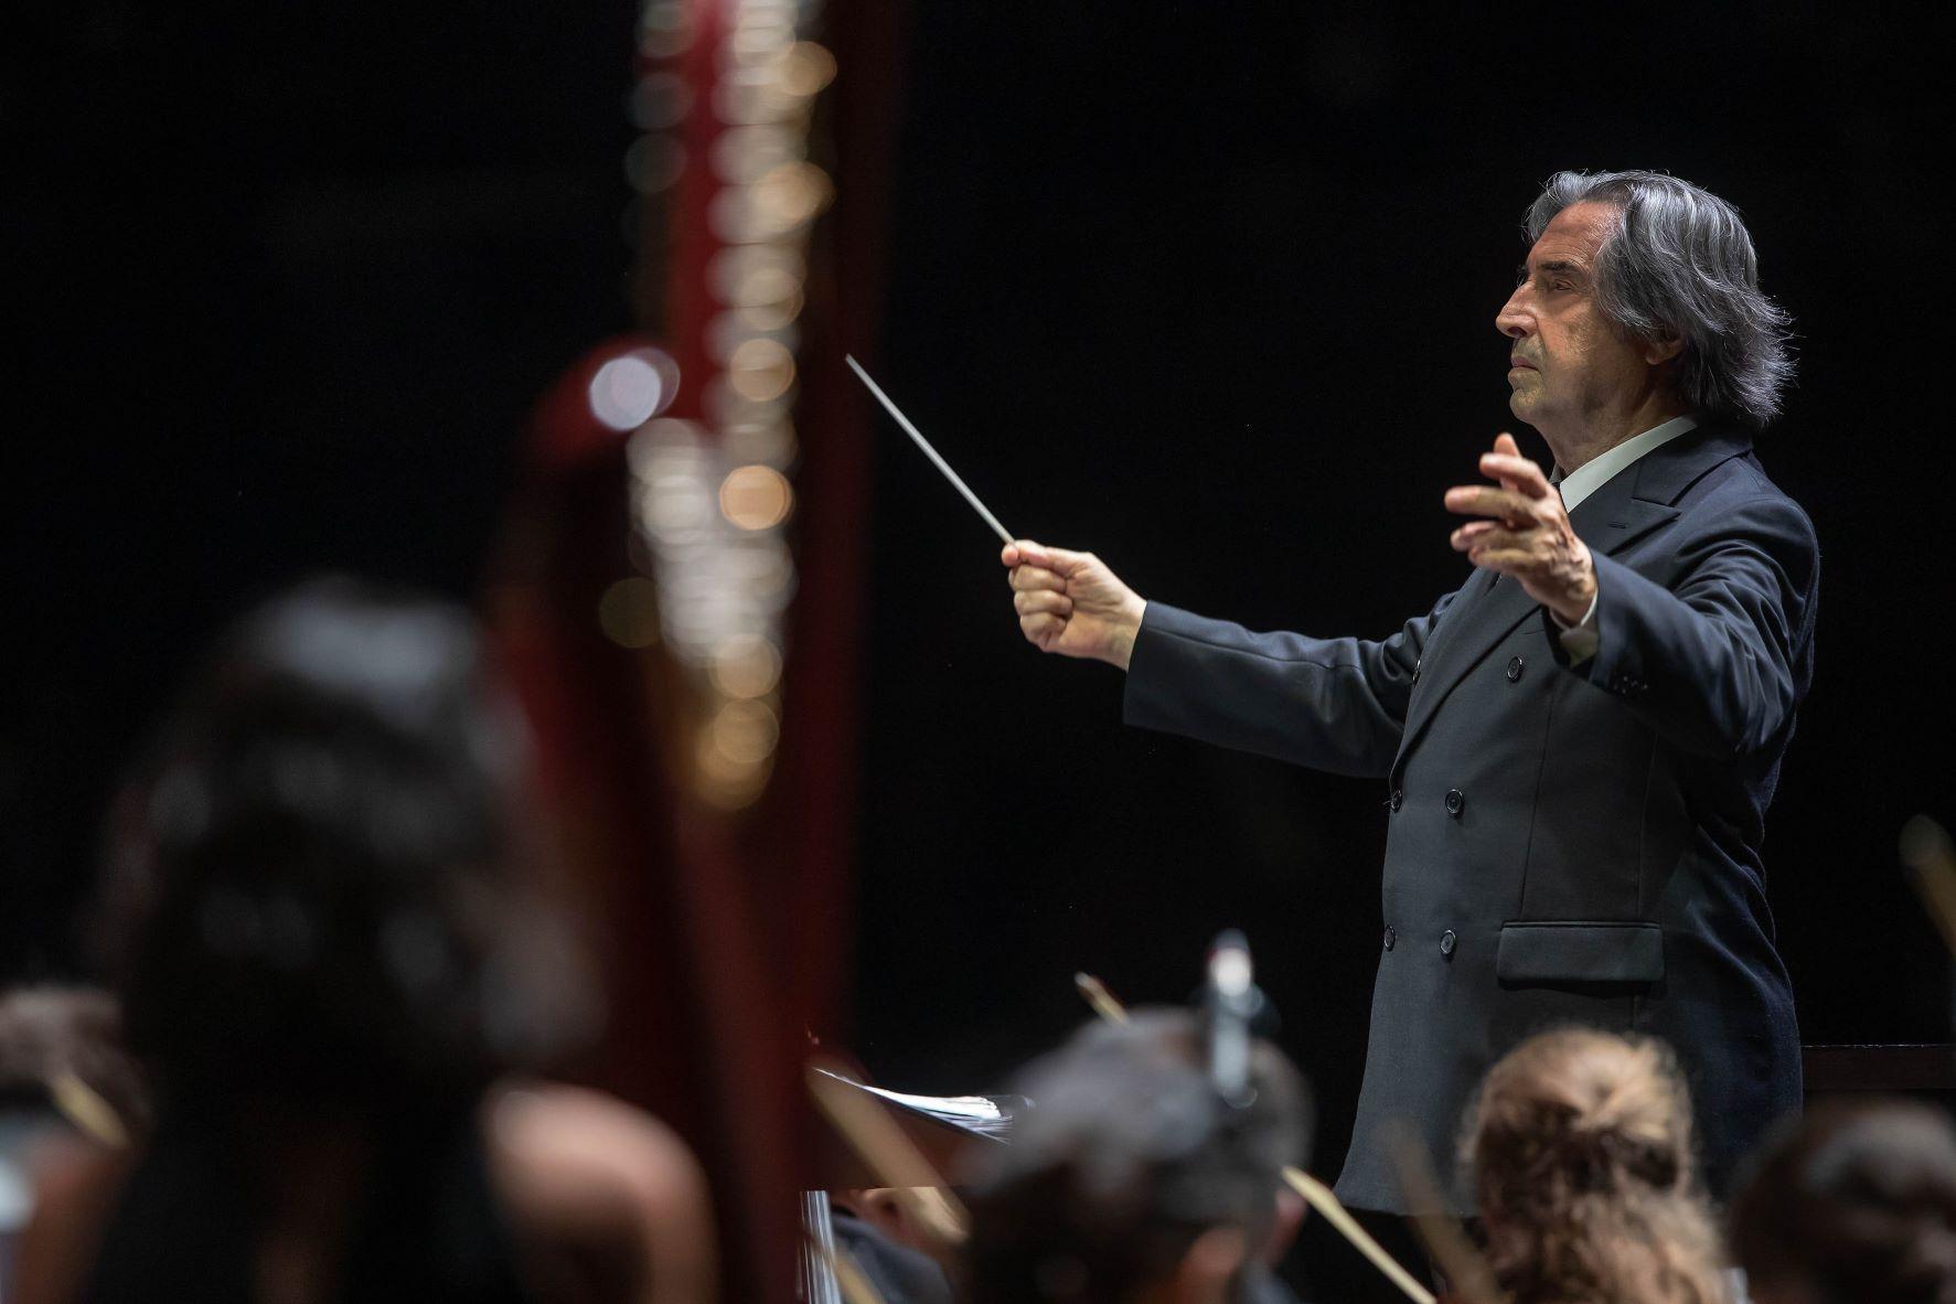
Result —
[[[462,608],[331,577],[248,616],[111,821],[102,942],[158,1091],[466,1097],[587,1028],[524,761]]]

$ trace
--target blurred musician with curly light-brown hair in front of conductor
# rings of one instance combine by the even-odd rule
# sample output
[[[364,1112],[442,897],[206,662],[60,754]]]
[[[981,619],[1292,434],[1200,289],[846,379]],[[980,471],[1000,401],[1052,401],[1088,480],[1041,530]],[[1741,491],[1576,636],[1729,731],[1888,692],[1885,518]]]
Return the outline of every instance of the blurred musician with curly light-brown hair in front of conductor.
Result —
[[[1514,1304],[1723,1304],[1692,1108],[1649,1038],[1545,1032],[1487,1075],[1465,1146],[1489,1267]]]

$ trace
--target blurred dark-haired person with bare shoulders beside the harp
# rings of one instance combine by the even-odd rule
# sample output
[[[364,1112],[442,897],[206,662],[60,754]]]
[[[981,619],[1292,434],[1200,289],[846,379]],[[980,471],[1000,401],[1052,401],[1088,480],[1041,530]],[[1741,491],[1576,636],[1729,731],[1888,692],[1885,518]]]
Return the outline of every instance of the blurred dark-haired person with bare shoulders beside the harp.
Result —
[[[712,1298],[685,1146],[514,1077],[595,1026],[524,798],[462,610],[321,581],[248,618],[111,829],[155,1126],[43,1165],[18,1298]]]

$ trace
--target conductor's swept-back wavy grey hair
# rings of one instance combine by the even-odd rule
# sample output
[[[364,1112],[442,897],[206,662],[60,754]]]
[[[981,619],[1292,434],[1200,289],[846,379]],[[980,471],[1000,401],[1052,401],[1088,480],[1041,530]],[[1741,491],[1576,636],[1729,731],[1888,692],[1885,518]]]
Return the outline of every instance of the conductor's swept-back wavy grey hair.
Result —
[[[1596,305],[1639,338],[1684,340],[1676,389],[1694,411],[1764,426],[1794,377],[1792,317],[1758,289],[1739,209],[1665,172],[1557,172],[1530,205],[1530,244],[1571,203],[1606,203]]]

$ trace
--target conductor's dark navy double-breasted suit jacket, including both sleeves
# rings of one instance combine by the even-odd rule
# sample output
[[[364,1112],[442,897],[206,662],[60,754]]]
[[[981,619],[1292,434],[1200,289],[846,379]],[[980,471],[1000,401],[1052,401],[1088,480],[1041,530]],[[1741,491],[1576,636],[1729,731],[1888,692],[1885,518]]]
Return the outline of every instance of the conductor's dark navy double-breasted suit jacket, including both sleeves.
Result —
[[[1383,641],[1150,602],[1134,643],[1129,723],[1389,780],[1371,1044],[1338,1179],[1361,1208],[1406,1212],[1389,1120],[1453,1173],[1481,1075],[1555,1024],[1676,1048],[1715,1193],[1800,1105],[1760,843],[1813,673],[1813,526],[1717,428],[1571,518],[1600,590],[1602,645],[1578,667],[1547,612],[1485,571]]]

